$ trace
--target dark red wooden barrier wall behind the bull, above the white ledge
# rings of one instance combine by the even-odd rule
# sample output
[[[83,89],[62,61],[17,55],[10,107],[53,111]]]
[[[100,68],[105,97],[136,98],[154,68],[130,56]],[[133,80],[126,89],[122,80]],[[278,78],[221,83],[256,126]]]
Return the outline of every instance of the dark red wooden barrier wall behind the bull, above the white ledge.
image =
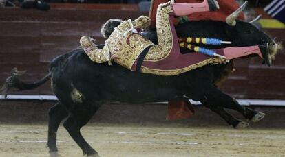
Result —
[[[83,35],[103,43],[100,28],[107,19],[135,19],[148,14],[134,11],[136,9],[132,7],[120,5],[115,9],[90,10],[85,6],[75,10],[66,6],[59,9],[54,5],[57,9],[48,12],[0,9],[0,84],[5,82],[13,67],[28,70],[24,80],[38,80],[48,72],[48,62],[78,47],[78,40]],[[120,8],[129,9],[118,10]],[[284,29],[266,29],[266,32],[285,41]],[[285,99],[284,59],[282,51],[271,68],[262,65],[259,58],[235,60],[235,73],[221,88],[239,99]],[[52,94],[52,91],[49,84],[45,84],[21,94],[45,95]]]

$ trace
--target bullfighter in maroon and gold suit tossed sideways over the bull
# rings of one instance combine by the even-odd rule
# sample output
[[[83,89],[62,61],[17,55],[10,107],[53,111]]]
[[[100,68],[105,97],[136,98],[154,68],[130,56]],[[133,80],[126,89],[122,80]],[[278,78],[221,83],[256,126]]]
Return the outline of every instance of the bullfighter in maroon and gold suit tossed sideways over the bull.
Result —
[[[130,69],[155,75],[178,75],[206,64],[222,64],[233,58],[240,58],[256,54],[271,66],[271,56],[268,53],[268,43],[249,47],[226,47],[224,49],[202,49],[189,47],[202,53],[180,53],[180,46],[176,30],[173,25],[174,16],[189,15],[194,12],[207,12],[219,9],[215,0],[204,0],[202,3],[161,3],[156,12],[156,32],[158,44],[155,45],[140,35],[148,29],[151,20],[147,16],[140,16],[131,21],[119,22],[114,31],[105,40],[103,49],[94,44],[89,36],[81,37],[80,43],[89,58],[96,63],[116,62]],[[107,21],[107,25],[110,21]],[[189,39],[190,40],[190,39]],[[206,40],[201,43],[205,43]],[[138,66],[139,56],[144,58]]]

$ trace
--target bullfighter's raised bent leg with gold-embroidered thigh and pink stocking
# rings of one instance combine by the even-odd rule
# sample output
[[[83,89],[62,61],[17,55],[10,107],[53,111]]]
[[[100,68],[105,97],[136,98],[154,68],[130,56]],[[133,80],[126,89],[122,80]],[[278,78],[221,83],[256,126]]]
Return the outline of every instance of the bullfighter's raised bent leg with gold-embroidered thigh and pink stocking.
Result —
[[[215,0],[211,0],[211,3],[215,4]],[[210,5],[207,0],[202,3],[162,3],[158,5],[156,14],[158,45],[150,47],[144,61],[158,62],[165,58],[178,58],[181,53],[178,45],[176,29],[173,24],[174,15],[187,15],[193,12],[209,10]],[[165,64],[168,62],[166,60],[164,61],[165,62],[160,62],[158,64]]]

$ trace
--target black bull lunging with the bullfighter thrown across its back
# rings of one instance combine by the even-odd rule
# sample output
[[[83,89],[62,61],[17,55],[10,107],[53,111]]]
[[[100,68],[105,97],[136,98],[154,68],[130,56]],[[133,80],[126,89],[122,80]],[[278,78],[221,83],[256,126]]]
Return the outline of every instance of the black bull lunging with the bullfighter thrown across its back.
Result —
[[[264,32],[242,21],[237,21],[235,27],[218,21],[196,21],[184,23],[176,29],[178,36],[221,38],[232,41],[231,46],[260,45],[265,42],[274,44]],[[154,32],[148,32],[145,36],[156,40]],[[52,77],[52,90],[59,102],[49,110],[47,146],[50,147],[50,152],[57,151],[56,131],[59,123],[67,118],[63,123],[67,132],[83,152],[90,155],[97,153],[85,141],[80,129],[101,104],[108,101],[138,104],[194,99],[201,101],[235,128],[244,128],[247,123],[235,119],[224,108],[237,110],[251,121],[260,120],[264,116],[260,112],[240,106],[235,99],[216,88],[215,82],[220,80],[228,65],[209,64],[187,73],[165,77],[129,71],[114,63],[112,66],[95,64],[82,49],[75,49],[54,58],[50,62],[50,73],[42,80],[25,83],[19,80],[19,72],[14,71],[2,90],[6,94],[10,88],[36,88]]]

